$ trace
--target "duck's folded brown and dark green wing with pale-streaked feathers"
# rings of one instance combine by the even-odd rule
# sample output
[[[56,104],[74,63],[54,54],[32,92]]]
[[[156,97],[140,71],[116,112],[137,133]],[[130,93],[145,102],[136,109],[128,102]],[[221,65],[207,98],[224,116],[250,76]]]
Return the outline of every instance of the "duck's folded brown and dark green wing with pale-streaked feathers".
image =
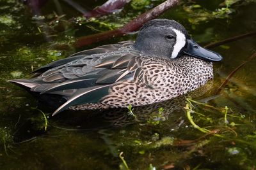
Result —
[[[108,55],[109,53],[104,53]],[[94,57],[93,57],[94,56]],[[41,94],[60,94],[67,99],[54,114],[70,106],[98,103],[108,95],[109,87],[117,81],[139,80],[147,82],[143,62],[147,57],[135,50],[110,52],[108,57],[88,55],[58,67],[48,69],[30,80],[12,80]],[[102,55],[103,56],[103,55]]]

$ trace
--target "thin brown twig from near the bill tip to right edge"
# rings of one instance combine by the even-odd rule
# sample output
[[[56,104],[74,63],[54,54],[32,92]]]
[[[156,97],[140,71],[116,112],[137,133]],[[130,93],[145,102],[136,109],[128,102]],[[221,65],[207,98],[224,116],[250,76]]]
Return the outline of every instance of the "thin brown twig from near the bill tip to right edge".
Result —
[[[256,35],[256,31],[248,32],[246,34],[241,34],[239,36],[234,36],[234,37],[227,38],[227,39],[223,39],[223,40],[218,41],[216,43],[209,43],[208,45],[205,45],[204,47],[205,48],[214,48],[216,46],[220,46],[220,45],[223,45],[223,44],[226,44],[226,43],[230,43],[232,41],[237,41],[239,39],[243,39],[243,38],[246,38],[246,37],[249,37],[249,36],[253,36],[253,35]]]

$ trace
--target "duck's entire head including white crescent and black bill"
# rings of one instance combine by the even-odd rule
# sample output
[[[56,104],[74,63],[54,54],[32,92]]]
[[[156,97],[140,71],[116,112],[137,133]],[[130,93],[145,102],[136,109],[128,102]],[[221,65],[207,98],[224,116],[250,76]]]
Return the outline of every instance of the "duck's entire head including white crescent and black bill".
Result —
[[[150,20],[144,24],[138,33],[134,48],[148,55],[168,59],[175,59],[186,53],[211,62],[222,60],[220,54],[193,41],[179,22],[168,19]]]

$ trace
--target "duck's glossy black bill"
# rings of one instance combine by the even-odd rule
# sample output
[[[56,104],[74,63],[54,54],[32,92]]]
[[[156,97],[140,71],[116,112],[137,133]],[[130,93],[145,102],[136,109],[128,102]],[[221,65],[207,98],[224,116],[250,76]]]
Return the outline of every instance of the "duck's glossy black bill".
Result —
[[[207,50],[202,46],[198,45],[192,39],[187,40],[187,46],[184,49],[184,53],[196,57],[198,59],[207,60],[207,61],[221,61],[223,57],[219,53],[212,52]]]

